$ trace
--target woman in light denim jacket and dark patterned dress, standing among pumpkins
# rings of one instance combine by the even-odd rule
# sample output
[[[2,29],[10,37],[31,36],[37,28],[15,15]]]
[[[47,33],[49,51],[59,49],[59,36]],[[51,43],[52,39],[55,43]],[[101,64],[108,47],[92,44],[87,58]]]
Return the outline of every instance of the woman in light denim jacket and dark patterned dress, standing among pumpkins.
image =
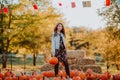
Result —
[[[70,77],[69,64],[66,56],[65,46],[65,30],[62,23],[58,23],[52,34],[52,54],[51,56],[57,57],[59,62],[62,62],[65,66],[67,77]],[[58,76],[59,62],[54,66],[55,76]]]

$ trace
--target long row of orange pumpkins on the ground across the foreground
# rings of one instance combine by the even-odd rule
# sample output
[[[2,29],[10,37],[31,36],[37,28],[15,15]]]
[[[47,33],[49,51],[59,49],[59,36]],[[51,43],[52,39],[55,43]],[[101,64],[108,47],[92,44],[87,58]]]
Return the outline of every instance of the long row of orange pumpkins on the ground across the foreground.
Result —
[[[58,77],[55,77],[54,71],[44,71],[41,74],[33,72],[31,75],[21,73],[16,76],[12,72],[0,73],[0,80],[67,80],[65,70],[60,70]],[[78,70],[70,70],[70,77],[72,80],[120,80],[120,74],[111,75],[106,71],[103,74],[94,73],[91,69],[86,72]]]

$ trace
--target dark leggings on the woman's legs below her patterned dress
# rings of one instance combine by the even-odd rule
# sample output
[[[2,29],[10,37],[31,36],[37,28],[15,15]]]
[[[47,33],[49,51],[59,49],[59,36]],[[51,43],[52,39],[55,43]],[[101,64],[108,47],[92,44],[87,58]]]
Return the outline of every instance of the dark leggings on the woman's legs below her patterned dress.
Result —
[[[66,71],[66,74],[70,77],[70,70],[69,70],[69,64],[68,64],[68,61],[64,61],[64,66],[65,66],[65,71]],[[55,65],[54,67],[54,71],[55,71],[55,76],[58,75],[58,67],[59,67],[59,63]]]

